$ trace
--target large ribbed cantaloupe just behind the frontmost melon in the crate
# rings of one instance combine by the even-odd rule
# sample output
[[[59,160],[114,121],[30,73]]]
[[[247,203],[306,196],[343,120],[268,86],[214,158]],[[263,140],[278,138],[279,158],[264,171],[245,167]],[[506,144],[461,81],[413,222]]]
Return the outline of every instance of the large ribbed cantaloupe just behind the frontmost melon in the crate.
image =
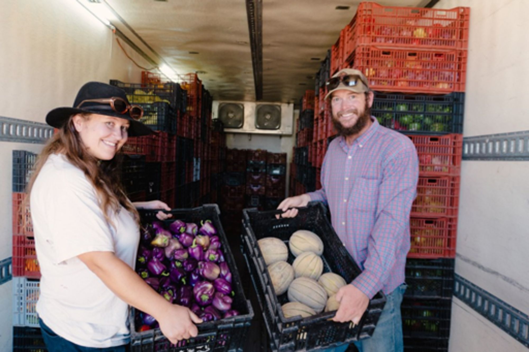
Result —
[[[316,280],[298,277],[288,287],[288,300],[306,304],[320,313],[327,303],[327,292]]]

